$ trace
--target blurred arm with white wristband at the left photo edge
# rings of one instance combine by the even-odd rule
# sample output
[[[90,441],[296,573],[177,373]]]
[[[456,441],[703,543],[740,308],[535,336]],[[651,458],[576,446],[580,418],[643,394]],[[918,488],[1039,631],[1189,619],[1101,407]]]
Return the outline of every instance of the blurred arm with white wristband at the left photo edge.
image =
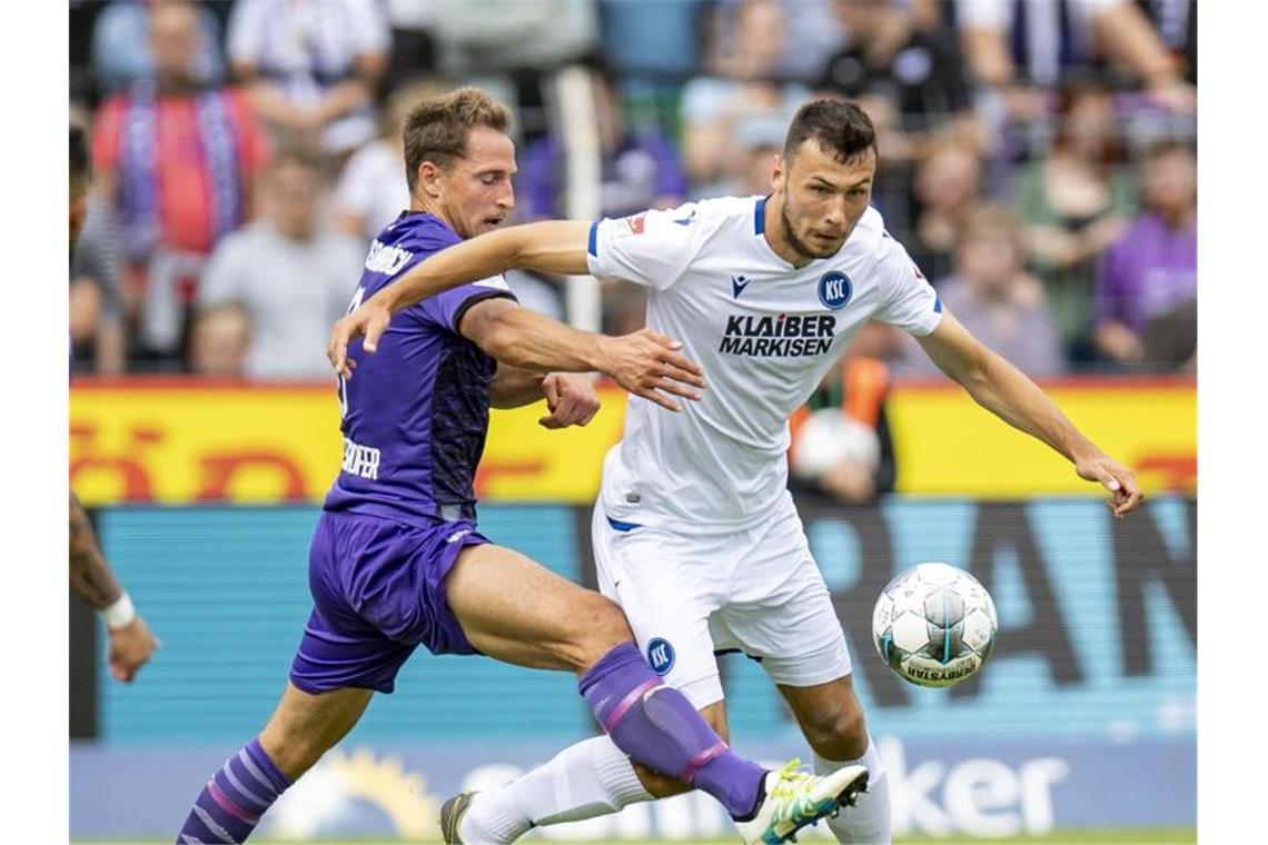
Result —
[[[115,680],[129,682],[150,660],[158,642],[105,562],[101,549],[96,545],[93,524],[74,492],[70,540],[71,589],[101,614],[110,635],[105,651],[110,674]]]

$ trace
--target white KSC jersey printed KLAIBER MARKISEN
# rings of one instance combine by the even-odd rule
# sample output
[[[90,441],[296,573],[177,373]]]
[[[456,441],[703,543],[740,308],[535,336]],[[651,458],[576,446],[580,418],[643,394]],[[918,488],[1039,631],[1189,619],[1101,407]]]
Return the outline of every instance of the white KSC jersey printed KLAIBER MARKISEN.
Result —
[[[647,326],[682,341],[709,385],[682,413],[630,397],[604,464],[610,519],[727,530],[786,495],[789,417],[869,321],[928,334],[942,305],[869,208],[831,258],[796,269],[763,233],[766,199],[720,198],[598,220],[593,275],[647,285]]]

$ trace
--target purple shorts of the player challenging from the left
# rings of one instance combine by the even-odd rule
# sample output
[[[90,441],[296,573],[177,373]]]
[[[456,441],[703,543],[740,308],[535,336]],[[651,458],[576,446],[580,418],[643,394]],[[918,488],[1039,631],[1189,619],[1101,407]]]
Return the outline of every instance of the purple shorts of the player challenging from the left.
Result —
[[[476,654],[449,609],[445,575],[458,552],[486,542],[467,519],[418,527],[322,512],[308,550],[313,611],[290,682],[307,693],[391,693],[420,644],[432,654]]]

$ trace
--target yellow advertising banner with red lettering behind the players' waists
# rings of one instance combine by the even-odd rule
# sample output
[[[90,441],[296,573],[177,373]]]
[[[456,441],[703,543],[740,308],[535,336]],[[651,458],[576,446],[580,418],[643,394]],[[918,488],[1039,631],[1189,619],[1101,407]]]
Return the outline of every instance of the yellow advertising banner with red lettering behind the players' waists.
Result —
[[[541,428],[541,403],[495,410],[477,495],[591,502],[625,410],[621,390],[600,393],[604,408],[586,428]],[[1137,470],[1146,490],[1196,489],[1192,381],[1069,381],[1050,393],[1084,432]],[[90,505],[320,502],[342,457],[330,385],[81,380],[70,408],[71,483]],[[990,498],[1092,490],[1064,460],[956,388],[900,385],[889,419],[900,492]]]

